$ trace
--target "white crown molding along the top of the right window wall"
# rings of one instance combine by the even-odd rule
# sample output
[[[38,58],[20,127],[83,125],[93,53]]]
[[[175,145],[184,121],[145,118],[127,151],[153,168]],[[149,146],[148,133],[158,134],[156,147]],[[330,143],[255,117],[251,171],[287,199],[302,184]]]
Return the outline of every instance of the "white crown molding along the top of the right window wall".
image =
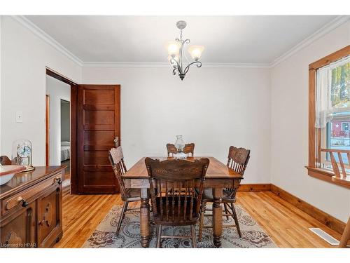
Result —
[[[296,46],[288,50],[286,53],[281,55],[279,58],[276,58],[270,63],[270,67],[276,67],[276,65],[279,65],[284,60],[290,58],[292,55],[297,53],[298,51],[302,50],[303,48],[306,48],[309,46],[312,42],[316,41],[317,39],[320,39],[325,34],[328,34],[333,29],[336,29],[340,25],[343,25],[344,23],[348,22],[350,20],[349,15],[339,15],[334,20],[328,22],[323,27],[318,29],[314,34],[311,34],[311,36],[308,36],[306,39],[298,43]]]

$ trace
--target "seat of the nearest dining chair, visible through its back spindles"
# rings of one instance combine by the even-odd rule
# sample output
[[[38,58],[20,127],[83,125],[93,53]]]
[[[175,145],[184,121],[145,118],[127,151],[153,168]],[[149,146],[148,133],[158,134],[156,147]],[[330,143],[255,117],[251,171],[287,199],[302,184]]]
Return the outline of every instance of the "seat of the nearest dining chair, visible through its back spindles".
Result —
[[[157,215],[154,215],[154,222],[155,224],[162,224],[162,225],[176,225],[176,226],[181,226],[181,225],[190,225],[190,224],[196,224],[198,219],[200,218],[199,216],[195,216],[195,213],[193,212],[192,214],[192,219],[190,219],[190,198],[186,198],[186,215],[184,216],[184,210],[183,210],[183,205],[185,204],[185,198],[181,197],[180,202],[181,202],[181,210],[179,211],[179,199],[177,196],[174,197],[174,209],[173,209],[173,199],[172,196],[168,196],[168,209],[166,206],[166,198],[165,196],[162,196],[162,214],[160,210],[160,197],[156,198],[156,203],[157,203]],[[193,199],[193,208],[197,205],[197,200],[194,198]],[[168,211],[173,211],[174,210],[174,217],[172,213],[168,212],[168,217],[167,217],[167,210]],[[161,217],[162,215],[162,217]]]

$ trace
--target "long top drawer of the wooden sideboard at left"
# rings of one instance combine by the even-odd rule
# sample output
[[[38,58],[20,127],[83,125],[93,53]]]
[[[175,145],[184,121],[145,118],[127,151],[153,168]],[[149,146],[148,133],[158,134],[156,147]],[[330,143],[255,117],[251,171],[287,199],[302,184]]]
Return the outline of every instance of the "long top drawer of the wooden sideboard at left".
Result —
[[[9,198],[6,198],[1,203],[2,215],[5,215],[10,212],[14,212],[22,208],[22,206],[27,206],[25,202],[30,203],[31,201],[38,198],[38,196],[43,192],[43,190],[51,187],[54,184],[62,183],[62,173],[59,172],[55,175],[52,175],[50,178],[44,180],[43,182],[39,182],[34,187],[31,187],[25,191],[22,191],[18,194],[14,194]]]

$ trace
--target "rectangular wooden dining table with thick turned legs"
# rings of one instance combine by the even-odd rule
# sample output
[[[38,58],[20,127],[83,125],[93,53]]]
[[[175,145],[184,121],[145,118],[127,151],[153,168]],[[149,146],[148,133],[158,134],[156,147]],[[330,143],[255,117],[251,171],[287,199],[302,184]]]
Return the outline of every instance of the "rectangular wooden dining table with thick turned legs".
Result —
[[[173,157],[151,157],[160,161],[173,159]],[[221,246],[221,234],[223,233],[223,208],[221,205],[223,197],[223,188],[238,188],[243,179],[242,175],[225,166],[214,157],[187,157],[187,160],[208,158],[210,163],[205,176],[204,188],[213,189],[213,240],[216,247]],[[150,236],[150,205],[149,205],[149,177],[145,165],[146,157],[141,158],[124,175],[123,180],[126,188],[141,189],[141,207],[140,207],[140,231],[141,245],[148,248]],[[199,182],[198,182],[199,183]]]

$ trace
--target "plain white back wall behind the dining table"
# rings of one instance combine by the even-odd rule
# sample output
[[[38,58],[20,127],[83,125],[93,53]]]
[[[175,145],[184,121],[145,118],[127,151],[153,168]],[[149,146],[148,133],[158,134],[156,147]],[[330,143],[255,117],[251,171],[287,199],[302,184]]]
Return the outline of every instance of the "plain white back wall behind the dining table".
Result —
[[[251,149],[244,183],[269,182],[268,69],[194,67],[181,81],[170,67],[84,67],[83,83],[121,85],[128,167],[142,156],[165,156],[165,144],[183,135],[197,156],[223,162],[230,145]]]

